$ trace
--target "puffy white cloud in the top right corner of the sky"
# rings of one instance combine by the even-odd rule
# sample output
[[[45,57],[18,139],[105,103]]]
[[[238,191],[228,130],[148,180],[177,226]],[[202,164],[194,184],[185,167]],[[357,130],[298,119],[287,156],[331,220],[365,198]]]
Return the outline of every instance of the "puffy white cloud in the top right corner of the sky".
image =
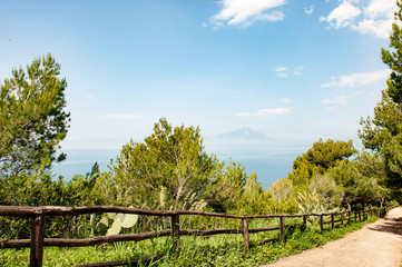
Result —
[[[330,28],[347,27],[361,34],[388,38],[395,10],[393,0],[343,0],[329,16],[321,17],[320,20],[329,22]]]

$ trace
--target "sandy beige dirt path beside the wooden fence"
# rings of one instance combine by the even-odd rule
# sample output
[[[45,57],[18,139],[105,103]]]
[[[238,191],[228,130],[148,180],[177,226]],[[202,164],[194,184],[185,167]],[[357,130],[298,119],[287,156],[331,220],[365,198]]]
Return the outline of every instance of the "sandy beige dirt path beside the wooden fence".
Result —
[[[265,267],[399,267],[402,263],[402,208],[344,238]]]

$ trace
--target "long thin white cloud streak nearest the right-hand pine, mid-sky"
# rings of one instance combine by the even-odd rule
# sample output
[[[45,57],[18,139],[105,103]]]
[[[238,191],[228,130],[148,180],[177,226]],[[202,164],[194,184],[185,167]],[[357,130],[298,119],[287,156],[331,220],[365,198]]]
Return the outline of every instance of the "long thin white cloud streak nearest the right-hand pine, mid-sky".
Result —
[[[390,75],[390,70],[376,70],[371,72],[356,72],[347,76],[341,76],[339,79],[334,79],[327,83],[321,85],[321,87],[357,87],[369,85],[379,80],[385,80]]]

